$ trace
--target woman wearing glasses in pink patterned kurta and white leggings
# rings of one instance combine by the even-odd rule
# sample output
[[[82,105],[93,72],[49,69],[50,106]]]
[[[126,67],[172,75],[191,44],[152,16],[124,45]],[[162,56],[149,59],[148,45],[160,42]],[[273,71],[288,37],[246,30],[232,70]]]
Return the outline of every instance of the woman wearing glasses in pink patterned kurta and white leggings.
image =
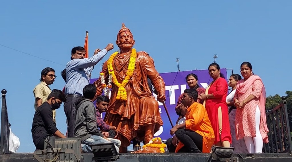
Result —
[[[234,95],[236,137],[244,138],[249,153],[262,153],[263,142],[269,142],[265,87],[261,78],[253,75],[251,63],[243,62],[240,72],[244,79],[237,83]]]

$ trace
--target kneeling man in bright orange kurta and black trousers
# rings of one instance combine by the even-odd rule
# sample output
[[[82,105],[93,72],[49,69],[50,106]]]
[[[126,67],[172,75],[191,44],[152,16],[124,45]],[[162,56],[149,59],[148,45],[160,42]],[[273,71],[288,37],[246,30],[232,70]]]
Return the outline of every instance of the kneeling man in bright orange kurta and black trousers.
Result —
[[[198,92],[186,89],[183,104],[187,106],[186,121],[173,127],[170,134],[180,141],[175,152],[210,153],[215,135],[205,107],[197,103]]]

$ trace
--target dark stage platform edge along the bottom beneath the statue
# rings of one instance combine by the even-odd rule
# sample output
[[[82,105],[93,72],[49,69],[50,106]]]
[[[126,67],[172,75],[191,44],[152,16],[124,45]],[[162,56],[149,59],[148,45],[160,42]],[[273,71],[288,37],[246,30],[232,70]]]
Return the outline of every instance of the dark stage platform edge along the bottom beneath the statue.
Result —
[[[291,162],[291,154],[240,154],[239,162]],[[81,154],[81,162],[91,162],[93,154]],[[206,162],[210,154],[203,153],[164,153],[164,154],[131,154],[121,153],[117,162]],[[233,154],[238,157],[238,154]],[[32,153],[0,154],[1,162],[37,161]]]

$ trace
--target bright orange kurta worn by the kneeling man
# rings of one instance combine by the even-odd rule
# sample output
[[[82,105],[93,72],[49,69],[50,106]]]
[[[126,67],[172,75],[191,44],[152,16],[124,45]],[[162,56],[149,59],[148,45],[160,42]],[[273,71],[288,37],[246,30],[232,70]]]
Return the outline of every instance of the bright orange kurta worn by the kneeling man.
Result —
[[[210,153],[215,135],[205,107],[202,104],[195,102],[187,108],[185,117],[185,128],[195,131],[203,136],[202,151],[203,153]],[[175,152],[178,152],[183,146],[183,143],[179,142]]]

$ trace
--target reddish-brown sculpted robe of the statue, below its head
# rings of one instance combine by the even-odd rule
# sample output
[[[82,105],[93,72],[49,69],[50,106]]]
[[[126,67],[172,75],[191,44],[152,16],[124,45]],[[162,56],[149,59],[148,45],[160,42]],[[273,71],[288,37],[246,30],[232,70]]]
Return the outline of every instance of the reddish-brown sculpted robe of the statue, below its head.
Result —
[[[119,83],[126,77],[130,55],[121,57],[119,54],[114,58],[113,70]],[[107,61],[102,67],[105,83],[108,83]],[[117,100],[118,87],[112,82],[109,108],[105,113],[104,121],[116,126],[118,130],[117,139],[121,140],[121,146],[129,146],[131,140],[150,141],[153,134],[163,125],[158,102],[152,96],[147,78],[149,78],[158,91],[165,94],[165,83],[154,66],[154,61],[146,52],[137,52],[136,64],[133,76],[126,84],[127,100]],[[97,95],[102,94],[100,78],[95,81]],[[151,131],[150,131],[151,129]],[[152,134],[152,136],[150,135]]]

